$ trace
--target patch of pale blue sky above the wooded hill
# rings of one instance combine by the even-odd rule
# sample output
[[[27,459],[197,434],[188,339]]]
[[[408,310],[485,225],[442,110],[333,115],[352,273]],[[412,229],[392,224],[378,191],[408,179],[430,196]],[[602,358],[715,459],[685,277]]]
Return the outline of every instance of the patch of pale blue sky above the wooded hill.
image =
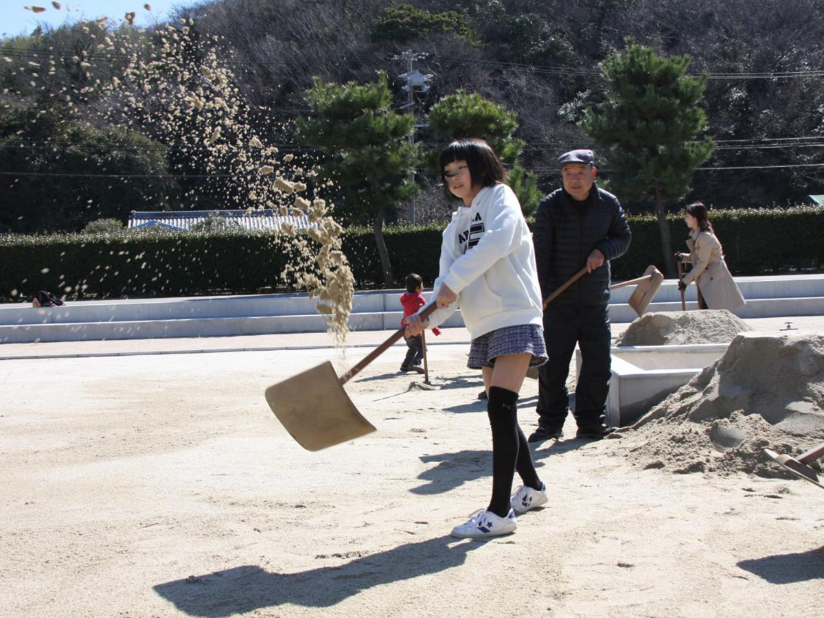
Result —
[[[152,12],[143,8],[144,4],[152,7]],[[2,0],[0,12],[0,36],[30,34],[39,23],[57,27],[64,23],[82,19],[98,19],[109,16],[112,20],[122,21],[127,12],[136,12],[135,26],[149,26],[155,21],[165,21],[174,7],[185,7],[192,2],[186,0],[77,0],[64,2],[59,0],[60,8],[55,9],[51,0]],[[34,13],[24,7],[43,7],[44,12]]]

